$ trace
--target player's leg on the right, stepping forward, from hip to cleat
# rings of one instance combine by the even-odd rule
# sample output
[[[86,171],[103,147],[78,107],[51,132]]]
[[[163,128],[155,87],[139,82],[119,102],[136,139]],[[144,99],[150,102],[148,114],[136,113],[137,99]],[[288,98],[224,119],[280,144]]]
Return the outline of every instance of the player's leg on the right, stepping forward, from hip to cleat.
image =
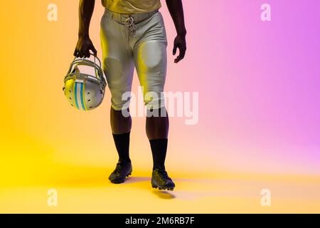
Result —
[[[164,162],[168,145],[169,118],[164,100],[166,81],[166,30],[158,12],[146,24],[146,34],[135,43],[134,64],[147,108],[146,135],[151,145],[154,167],[152,187],[174,189],[174,182],[166,173]]]

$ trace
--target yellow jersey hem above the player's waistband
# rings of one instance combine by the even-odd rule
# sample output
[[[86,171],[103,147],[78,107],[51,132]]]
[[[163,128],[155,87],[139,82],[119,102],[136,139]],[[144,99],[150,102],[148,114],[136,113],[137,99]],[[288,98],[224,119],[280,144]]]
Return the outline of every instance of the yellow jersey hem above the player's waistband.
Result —
[[[102,5],[120,14],[139,14],[161,8],[160,0],[102,0]]]

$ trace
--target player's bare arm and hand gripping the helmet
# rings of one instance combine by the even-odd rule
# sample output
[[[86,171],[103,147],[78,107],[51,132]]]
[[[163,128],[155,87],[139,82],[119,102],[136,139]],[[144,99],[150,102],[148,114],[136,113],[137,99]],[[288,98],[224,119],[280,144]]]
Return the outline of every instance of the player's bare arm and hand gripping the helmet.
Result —
[[[97,55],[97,50],[89,36],[93,9],[95,9],[95,0],[80,0],[78,43],[75,47],[75,53],[73,53],[76,57],[90,57],[90,51]]]

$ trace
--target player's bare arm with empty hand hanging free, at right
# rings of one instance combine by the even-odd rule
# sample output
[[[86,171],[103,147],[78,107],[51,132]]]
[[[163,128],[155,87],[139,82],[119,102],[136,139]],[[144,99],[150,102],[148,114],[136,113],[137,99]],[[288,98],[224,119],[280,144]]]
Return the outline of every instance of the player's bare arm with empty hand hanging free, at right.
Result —
[[[179,55],[174,60],[175,63],[181,61],[186,54],[186,26],[184,24],[183,6],[181,0],[166,0],[169,12],[174,20],[174,26],[176,26],[177,36],[174,40],[174,52],[176,55],[176,49],[179,49]]]

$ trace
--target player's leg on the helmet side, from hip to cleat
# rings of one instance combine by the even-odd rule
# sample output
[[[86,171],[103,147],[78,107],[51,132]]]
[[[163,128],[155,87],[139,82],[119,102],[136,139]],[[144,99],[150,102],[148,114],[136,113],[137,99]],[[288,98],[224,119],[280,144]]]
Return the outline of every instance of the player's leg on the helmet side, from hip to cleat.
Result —
[[[110,110],[110,124],[114,144],[119,155],[117,167],[109,179],[113,183],[124,182],[131,174],[132,165],[129,158],[129,137],[132,126],[131,117],[122,115],[122,108],[126,100],[122,100],[123,93],[131,91],[134,72],[132,51],[127,43],[126,33],[121,26],[113,21],[109,11],[101,21],[101,44],[103,51],[103,67],[107,83],[112,94]]]

